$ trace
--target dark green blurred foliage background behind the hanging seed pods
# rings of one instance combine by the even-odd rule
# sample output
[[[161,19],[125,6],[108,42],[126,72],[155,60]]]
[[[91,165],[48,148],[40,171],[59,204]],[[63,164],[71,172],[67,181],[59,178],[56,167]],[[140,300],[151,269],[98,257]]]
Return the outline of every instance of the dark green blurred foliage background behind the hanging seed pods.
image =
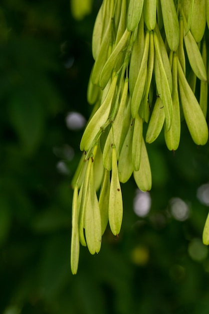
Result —
[[[184,122],[174,154],[163,134],[147,145],[150,193],[133,178],[122,185],[119,238],[107,229],[94,256],[81,247],[71,274],[70,183],[84,128],[71,121],[92,109],[100,4],[76,21],[69,0],[1,2],[0,313],[208,314],[209,147],[197,147]]]

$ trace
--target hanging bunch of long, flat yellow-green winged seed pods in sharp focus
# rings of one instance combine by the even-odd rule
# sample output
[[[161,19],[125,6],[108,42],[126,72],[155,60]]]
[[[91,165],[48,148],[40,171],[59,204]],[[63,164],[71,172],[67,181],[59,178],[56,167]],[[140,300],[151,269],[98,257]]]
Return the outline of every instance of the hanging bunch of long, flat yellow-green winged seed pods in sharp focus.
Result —
[[[72,181],[73,274],[80,243],[98,253],[108,221],[119,234],[120,183],[133,174],[140,190],[151,189],[145,142],[163,129],[168,149],[176,150],[182,119],[195,144],[207,142],[206,23],[209,0],[103,1],[93,30],[95,63],[87,92],[94,107]],[[207,226],[203,241],[208,244]]]

